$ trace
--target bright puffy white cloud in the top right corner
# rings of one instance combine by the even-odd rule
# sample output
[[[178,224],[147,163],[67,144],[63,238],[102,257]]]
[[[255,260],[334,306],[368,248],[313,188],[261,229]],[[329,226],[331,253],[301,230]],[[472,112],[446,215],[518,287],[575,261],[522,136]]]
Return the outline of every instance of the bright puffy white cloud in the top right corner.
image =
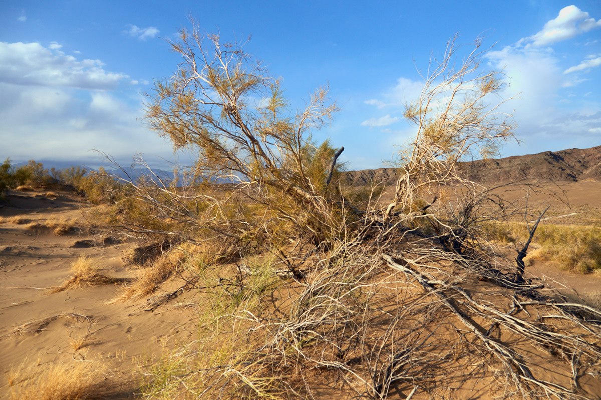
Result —
[[[569,5],[562,8],[555,19],[547,22],[542,31],[528,39],[532,40],[534,46],[548,46],[597,28],[601,28],[601,20],[595,21],[589,18],[587,12],[575,5]]]

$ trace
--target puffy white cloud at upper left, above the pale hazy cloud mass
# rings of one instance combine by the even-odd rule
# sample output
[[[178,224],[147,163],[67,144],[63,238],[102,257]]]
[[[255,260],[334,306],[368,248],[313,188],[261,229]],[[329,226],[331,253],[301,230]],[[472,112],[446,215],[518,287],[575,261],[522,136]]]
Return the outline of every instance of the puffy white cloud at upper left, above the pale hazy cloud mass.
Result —
[[[0,82],[13,85],[113,89],[128,76],[102,68],[100,60],[78,61],[64,55],[56,42],[46,49],[39,43],[0,42]]]

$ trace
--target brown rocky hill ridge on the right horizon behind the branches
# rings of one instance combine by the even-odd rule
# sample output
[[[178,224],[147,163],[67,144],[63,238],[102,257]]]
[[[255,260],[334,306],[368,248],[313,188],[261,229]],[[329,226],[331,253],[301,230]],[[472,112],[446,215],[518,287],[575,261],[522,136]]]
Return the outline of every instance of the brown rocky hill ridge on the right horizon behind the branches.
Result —
[[[601,181],[601,146],[589,149],[546,151],[505,158],[476,160],[460,165],[466,178],[482,184],[496,184],[523,178],[545,178],[554,182]],[[364,187],[371,182],[395,184],[394,168],[344,172],[346,186]]]

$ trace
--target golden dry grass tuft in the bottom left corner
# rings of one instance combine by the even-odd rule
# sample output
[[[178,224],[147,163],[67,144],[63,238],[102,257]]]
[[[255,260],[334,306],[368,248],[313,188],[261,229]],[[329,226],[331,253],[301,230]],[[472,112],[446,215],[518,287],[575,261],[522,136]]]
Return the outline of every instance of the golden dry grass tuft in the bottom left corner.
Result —
[[[43,368],[42,371],[31,369]],[[10,395],[13,400],[80,400],[98,398],[102,368],[96,363],[73,365],[35,365],[11,371]]]

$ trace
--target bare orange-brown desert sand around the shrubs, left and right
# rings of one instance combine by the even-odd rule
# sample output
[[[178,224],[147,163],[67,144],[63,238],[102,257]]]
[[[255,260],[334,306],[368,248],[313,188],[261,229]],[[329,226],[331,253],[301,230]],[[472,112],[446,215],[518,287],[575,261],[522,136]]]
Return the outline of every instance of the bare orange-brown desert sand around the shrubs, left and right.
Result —
[[[601,182],[563,182],[560,188],[562,201],[542,194],[531,197],[532,204],[552,205],[542,224],[599,223]],[[507,198],[522,196],[511,188],[501,188],[499,193]],[[153,364],[178,346],[198,339],[197,297],[203,290],[178,290],[186,286],[182,276],[171,276],[150,296],[119,299],[123,288],[145,267],[131,257],[139,243],[90,228],[90,207],[81,196],[60,187],[51,191],[8,191],[7,200],[0,206],[2,398],[20,398],[19,393],[28,386],[41,384],[40,377],[50,376],[44,374],[53,366],[76,369],[81,365],[94,371],[93,380],[86,383],[93,386],[92,398],[141,398],[139,388],[147,383],[146,375]],[[93,260],[112,282],[58,291],[72,275],[73,263],[81,257]],[[583,275],[562,270],[554,261],[532,260],[526,276],[583,303],[601,303],[598,273]],[[490,290],[490,282],[478,279],[469,279],[469,285],[474,293]],[[543,378],[557,379],[545,368],[540,373]],[[460,389],[449,398],[494,398],[496,392],[490,394],[488,389],[493,380],[483,374],[467,386],[456,382]],[[599,377],[585,377],[582,385],[584,398],[601,397]],[[313,396],[354,398],[351,394],[334,396],[326,388],[322,392],[316,389]],[[388,398],[404,399],[408,395],[409,390],[391,391]],[[413,398],[445,397],[426,391]]]

